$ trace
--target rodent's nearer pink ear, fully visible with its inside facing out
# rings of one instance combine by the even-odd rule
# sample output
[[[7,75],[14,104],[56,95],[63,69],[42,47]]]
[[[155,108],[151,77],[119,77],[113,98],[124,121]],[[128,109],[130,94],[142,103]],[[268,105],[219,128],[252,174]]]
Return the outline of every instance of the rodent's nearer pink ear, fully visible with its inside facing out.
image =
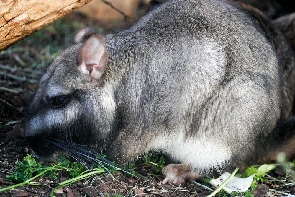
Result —
[[[101,35],[94,35],[83,45],[80,52],[80,69],[93,79],[100,79],[106,68],[108,52]]]

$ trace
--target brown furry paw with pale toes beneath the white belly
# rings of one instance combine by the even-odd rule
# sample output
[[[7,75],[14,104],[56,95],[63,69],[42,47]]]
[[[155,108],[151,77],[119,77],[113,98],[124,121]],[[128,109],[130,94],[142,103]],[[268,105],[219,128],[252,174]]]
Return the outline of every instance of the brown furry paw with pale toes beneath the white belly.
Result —
[[[162,174],[165,176],[165,179],[162,181],[163,184],[173,183],[180,185],[187,180],[199,178],[199,174],[192,172],[187,164],[169,164],[163,168]]]

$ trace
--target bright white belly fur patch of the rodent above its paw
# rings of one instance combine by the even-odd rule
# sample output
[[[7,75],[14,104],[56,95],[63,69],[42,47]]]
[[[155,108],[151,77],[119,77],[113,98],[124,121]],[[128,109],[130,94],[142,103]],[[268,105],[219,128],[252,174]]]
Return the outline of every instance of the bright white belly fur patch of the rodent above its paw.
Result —
[[[185,138],[184,132],[173,132],[170,135],[162,132],[148,150],[166,153],[176,162],[188,164],[194,171],[205,173],[213,169],[222,170],[221,167],[232,155],[221,141],[204,135],[196,139]]]

